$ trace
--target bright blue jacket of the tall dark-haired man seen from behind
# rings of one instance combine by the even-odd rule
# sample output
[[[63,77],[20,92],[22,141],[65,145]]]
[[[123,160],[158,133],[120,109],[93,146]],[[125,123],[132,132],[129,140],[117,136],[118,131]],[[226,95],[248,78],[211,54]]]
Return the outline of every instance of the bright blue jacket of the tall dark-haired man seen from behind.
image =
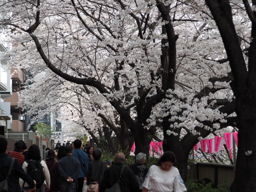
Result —
[[[88,172],[88,167],[89,167],[88,155],[80,149],[74,149],[73,157],[78,159],[78,161],[80,162],[81,170],[80,170],[78,178],[86,177],[87,172]]]

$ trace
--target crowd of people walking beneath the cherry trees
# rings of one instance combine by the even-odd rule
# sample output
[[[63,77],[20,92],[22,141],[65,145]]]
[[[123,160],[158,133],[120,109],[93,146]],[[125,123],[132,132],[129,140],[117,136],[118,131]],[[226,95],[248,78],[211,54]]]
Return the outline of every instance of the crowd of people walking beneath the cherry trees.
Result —
[[[102,161],[102,150],[74,142],[58,142],[55,148],[46,148],[41,159],[39,147],[27,150],[23,141],[15,143],[15,150],[8,151],[7,140],[0,137],[0,182],[7,177],[12,158],[15,158],[8,178],[10,192],[107,192],[119,188],[121,192],[183,192],[184,182],[174,166],[175,155],[166,151],[156,165],[148,170],[146,154],[136,155],[136,163],[124,166],[125,155],[117,153],[114,161]],[[69,144],[68,144],[69,143]],[[33,171],[32,171],[33,170]],[[36,170],[36,171],[35,171]]]

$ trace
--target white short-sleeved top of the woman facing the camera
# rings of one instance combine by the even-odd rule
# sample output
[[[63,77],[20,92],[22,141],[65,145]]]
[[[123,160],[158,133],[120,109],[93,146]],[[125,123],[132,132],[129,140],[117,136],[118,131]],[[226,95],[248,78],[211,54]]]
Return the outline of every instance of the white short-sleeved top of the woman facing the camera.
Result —
[[[143,187],[148,192],[184,192],[187,191],[178,169],[172,166],[170,171],[161,170],[152,165],[148,170]]]

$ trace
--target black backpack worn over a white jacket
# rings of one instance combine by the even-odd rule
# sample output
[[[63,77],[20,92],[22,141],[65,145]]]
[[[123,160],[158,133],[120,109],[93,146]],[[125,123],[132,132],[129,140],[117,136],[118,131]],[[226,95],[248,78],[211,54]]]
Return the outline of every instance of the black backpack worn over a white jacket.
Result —
[[[37,182],[36,188],[41,188],[45,181],[44,169],[40,163],[41,159],[39,161],[26,160],[26,162],[28,163],[27,174]]]

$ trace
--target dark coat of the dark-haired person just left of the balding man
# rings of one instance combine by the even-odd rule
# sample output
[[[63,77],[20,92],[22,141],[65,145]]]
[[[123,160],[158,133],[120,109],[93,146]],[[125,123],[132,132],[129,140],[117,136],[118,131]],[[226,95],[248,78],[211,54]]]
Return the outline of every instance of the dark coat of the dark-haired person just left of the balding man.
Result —
[[[102,166],[101,166],[102,165]],[[89,185],[90,182],[99,181],[101,184],[105,170],[107,169],[107,164],[102,162],[101,159],[94,159],[89,163],[89,170],[86,177],[86,184]]]

